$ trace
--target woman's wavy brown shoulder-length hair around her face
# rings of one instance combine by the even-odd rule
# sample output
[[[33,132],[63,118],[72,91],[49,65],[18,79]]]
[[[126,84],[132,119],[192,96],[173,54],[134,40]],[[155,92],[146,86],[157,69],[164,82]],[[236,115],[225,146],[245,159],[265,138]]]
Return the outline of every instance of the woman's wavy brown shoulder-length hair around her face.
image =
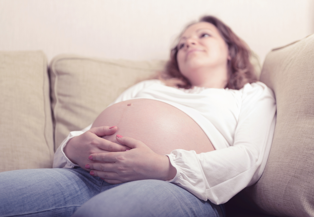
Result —
[[[227,63],[229,81],[226,87],[239,90],[246,83],[256,82],[257,76],[254,71],[254,66],[250,62],[252,54],[248,45],[241,40],[230,27],[214,16],[204,16],[199,22],[213,24],[228,45],[231,59],[228,60]],[[185,29],[193,24],[188,25]],[[181,74],[177,62],[177,54],[178,46],[176,45],[171,49],[170,60],[165,66],[165,71],[160,75],[160,79],[163,80],[166,85],[189,89],[192,87],[192,84]]]

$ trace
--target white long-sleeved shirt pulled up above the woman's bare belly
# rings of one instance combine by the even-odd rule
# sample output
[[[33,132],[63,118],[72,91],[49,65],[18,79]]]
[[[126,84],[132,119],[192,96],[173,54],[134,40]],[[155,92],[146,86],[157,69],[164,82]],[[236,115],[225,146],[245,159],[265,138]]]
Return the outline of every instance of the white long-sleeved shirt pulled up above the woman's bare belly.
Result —
[[[247,83],[242,89],[233,90],[183,89],[165,86],[160,80],[147,80],[130,87],[111,104],[134,98],[159,100],[185,112],[215,148],[200,154],[176,149],[166,155],[177,170],[168,182],[202,200],[222,204],[262,176],[276,122],[273,92],[262,82]],[[54,168],[78,166],[65,156],[63,149],[68,140],[90,127],[70,132],[55,153]]]

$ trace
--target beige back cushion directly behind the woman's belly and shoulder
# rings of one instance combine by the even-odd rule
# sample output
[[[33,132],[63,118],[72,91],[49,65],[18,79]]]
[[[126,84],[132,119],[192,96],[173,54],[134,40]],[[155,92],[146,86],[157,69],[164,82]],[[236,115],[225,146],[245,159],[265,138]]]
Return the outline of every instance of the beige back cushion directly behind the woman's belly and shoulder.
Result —
[[[50,63],[55,148],[91,124],[122,91],[156,75],[164,61],[101,60],[59,55]]]

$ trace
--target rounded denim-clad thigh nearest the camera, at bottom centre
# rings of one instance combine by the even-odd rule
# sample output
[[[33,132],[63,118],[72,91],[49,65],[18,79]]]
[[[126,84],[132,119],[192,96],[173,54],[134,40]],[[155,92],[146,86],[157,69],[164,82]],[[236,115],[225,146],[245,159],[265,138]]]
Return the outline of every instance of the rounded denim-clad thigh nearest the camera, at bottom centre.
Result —
[[[203,201],[187,190],[160,180],[140,180],[106,190],[84,203],[80,216],[223,216],[218,205]]]

